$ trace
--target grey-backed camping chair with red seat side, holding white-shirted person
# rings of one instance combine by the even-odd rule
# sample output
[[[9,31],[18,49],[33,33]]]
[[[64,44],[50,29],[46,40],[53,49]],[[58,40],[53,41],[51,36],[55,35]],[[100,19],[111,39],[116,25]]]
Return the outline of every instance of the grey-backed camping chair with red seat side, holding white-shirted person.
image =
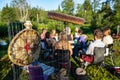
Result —
[[[105,47],[95,47],[94,48],[94,55],[83,55],[82,59],[83,61],[87,63],[92,63],[96,65],[102,66],[104,64],[106,48]],[[96,71],[95,75],[98,73],[99,69]]]

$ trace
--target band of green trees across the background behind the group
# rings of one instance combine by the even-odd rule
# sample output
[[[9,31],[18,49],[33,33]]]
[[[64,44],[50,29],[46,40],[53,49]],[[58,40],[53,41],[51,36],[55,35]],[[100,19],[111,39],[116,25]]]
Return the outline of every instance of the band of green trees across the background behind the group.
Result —
[[[120,1],[112,1],[113,3],[111,4],[113,7],[111,8],[111,4],[108,1],[104,2],[102,7],[100,7],[101,4],[99,0],[94,0],[93,2],[85,0],[83,4],[77,4],[77,6],[75,6],[73,0],[63,0],[61,5],[58,5],[58,9],[55,10],[55,12],[63,12],[65,14],[82,17],[86,20],[87,24],[91,24],[93,30],[109,26],[113,30],[112,32],[116,33],[116,26],[120,24]],[[20,4],[22,4],[22,6]],[[76,13],[74,13],[75,10]],[[55,20],[50,23],[51,20],[47,17],[47,11],[38,7],[30,8],[26,0],[12,0],[10,7],[6,5],[1,11],[0,20],[6,22],[6,24],[9,21],[23,21],[26,19],[35,22],[37,24],[35,24],[36,28],[38,27],[38,24],[45,24],[46,28],[52,28],[51,26],[53,26],[53,28],[55,28],[55,26],[61,26],[61,28],[56,28],[58,31],[61,31],[64,26],[63,24],[57,24],[59,22],[56,23]],[[73,32],[74,31],[72,30],[72,33]]]

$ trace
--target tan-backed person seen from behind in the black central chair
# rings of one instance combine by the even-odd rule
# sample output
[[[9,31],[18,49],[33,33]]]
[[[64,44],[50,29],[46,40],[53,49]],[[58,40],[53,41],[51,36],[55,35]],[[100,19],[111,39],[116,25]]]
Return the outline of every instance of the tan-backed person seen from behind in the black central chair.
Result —
[[[62,49],[62,50],[69,50],[70,55],[73,54],[72,52],[72,46],[67,40],[67,35],[65,32],[60,33],[60,40],[55,43],[55,50],[56,49]]]

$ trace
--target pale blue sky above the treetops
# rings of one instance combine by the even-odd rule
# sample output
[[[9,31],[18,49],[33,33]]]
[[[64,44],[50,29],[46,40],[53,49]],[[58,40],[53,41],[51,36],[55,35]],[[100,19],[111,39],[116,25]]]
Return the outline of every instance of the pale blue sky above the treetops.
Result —
[[[0,0],[0,10],[6,5],[10,5],[12,0]],[[44,10],[56,10],[63,0],[27,0],[31,7],[39,7]],[[102,0],[105,1],[105,0]],[[75,5],[82,4],[84,0],[74,0]]]

